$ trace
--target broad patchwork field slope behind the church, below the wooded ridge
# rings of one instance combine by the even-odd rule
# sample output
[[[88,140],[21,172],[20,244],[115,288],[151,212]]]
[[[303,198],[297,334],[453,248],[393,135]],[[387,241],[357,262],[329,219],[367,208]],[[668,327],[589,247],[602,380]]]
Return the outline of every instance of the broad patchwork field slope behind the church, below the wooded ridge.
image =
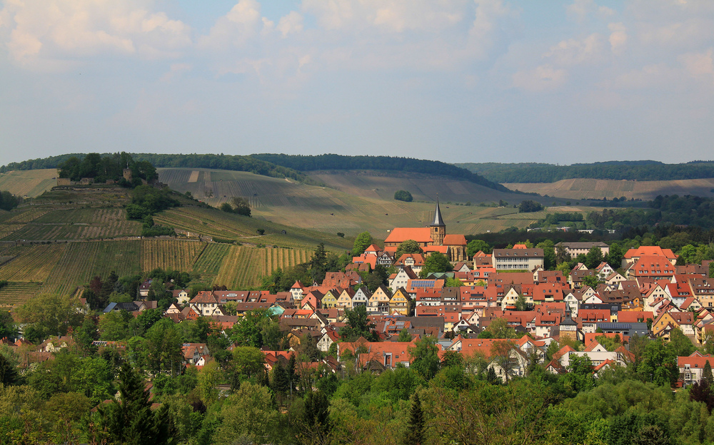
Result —
[[[313,172],[313,178],[329,187],[304,185],[227,170],[159,169],[159,180],[181,193],[211,205],[220,205],[233,196],[248,198],[253,217],[273,223],[348,236],[368,230],[383,240],[393,227],[419,227],[433,216],[438,193],[441,210],[451,233],[475,234],[508,227],[526,227],[538,218],[535,214],[518,213],[513,204],[528,195],[501,193],[463,180],[413,174],[384,172]],[[410,190],[415,202],[394,200],[394,191]],[[553,198],[540,198],[552,204]],[[509,208],[481,207],[476,203],[498,203]],[[422,201],[422,202],[418,202]],[[456,203],[473,205],[456,205]],[[453,203],[453,204],[452,204]]]

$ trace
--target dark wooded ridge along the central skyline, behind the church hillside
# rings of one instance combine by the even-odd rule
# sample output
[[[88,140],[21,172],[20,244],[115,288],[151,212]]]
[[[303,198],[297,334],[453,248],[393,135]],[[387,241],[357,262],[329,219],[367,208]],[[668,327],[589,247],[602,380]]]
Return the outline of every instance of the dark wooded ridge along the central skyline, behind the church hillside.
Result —
[[[513,193],[503,185],[494,183],[483,176],[472,173],[466,168],[443,163],[438,160],[413,158],[395,158],[393,156],[346,156],[346,155],[283,155],[261,153],[251,155],[253,158],[268,161],[300,171],[311,170],[392,170],[428,175],[442,175],[449,178],[468,180],[471,183],[483,185],[502,192]]]

